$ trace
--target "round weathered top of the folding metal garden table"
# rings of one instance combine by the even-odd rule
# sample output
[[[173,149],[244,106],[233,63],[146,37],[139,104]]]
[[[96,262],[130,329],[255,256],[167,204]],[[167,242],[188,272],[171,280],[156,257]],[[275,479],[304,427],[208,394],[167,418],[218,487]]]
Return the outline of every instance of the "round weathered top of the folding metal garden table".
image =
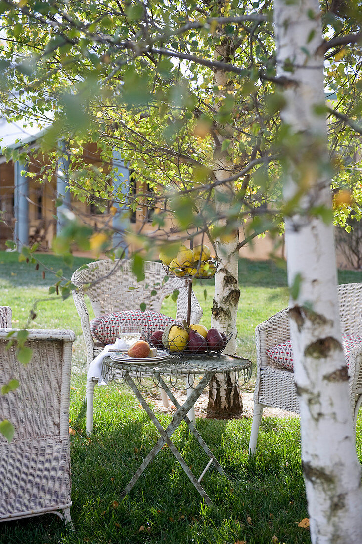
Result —
[[[172,357],[165,361],[147,362],[142,360],[132,363],[128,361],[114,361],[111,357],[105,357],[103,366],[118,368],[122,372],[136,372],[137,374],[161,374],[161,375],[192,375],[192,374],[226,374],[228,372],[251,371],[251,361],[238,355],[221,355],[216,357]]]

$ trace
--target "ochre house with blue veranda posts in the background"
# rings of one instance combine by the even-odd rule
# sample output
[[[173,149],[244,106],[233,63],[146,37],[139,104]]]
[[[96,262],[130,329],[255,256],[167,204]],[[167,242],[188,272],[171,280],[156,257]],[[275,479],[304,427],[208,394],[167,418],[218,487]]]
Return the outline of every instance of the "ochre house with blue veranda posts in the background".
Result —
[[[39,183],[40,170],[47,166],[44,156],[38,153],[38,139],[42,131],[33,129],[30,125],[25,128],[20,123],[8,123],[0,119],[0,248],[5,249],[7,240],[14,240],[17,248],[24,245],[39,243],[39,251],[49,251],[52,247],[53,237],[60,231],[64,224],[64,214],[67,210],[76,214],[78,220],[90,225],[95,231],[102,228],[113,230],[113,246],[125,246],[123,233],[125,230],[138,231],[142,224],[143,232],[154,230],[151,221],[148,221],[148,209],[139,207],[136,211],[130,211],[125,205],[118,203],[108,205],[105,212],[100,212],[96,202],[86,203],[78,201],[68,189],[68,161],[65,158],[59,160],[54,173],[47,181]],[[28,164],[7,162],[1,147],[18,147],[26,150],[30,160]],[[24,148],[25,149],[25,148]],[[64,146],[65,151],[65,146]],[[105,165],[101,161],[96,144],[85,145],[83,157],[87,162],[102,167],[105,174],[109,169],[114,169],[113,184],[120,188],[127,197],[137,190],[149,190],[138,187],[137,181],[126,168],[119,151],[113,151],[112,164]],[[29,176],[35,174],[35,176]],[[58,200],[62,205],[56,206]],[[120,213],[112,213],[111,207],[119,209]],[[198,243],[198,240],[195,240]],[[133,249],[131,247],[131,249]],[[268,236],[256,238],[252,246],[244,246],[240,250],[240,256],[250,259],[267,259],[274,251],[274,242]],[[279,251],[283,256],[283,244]],[[155,254],[157,258],[157,254]],[[342,251],[337,254],[339,267],[348,267]]]

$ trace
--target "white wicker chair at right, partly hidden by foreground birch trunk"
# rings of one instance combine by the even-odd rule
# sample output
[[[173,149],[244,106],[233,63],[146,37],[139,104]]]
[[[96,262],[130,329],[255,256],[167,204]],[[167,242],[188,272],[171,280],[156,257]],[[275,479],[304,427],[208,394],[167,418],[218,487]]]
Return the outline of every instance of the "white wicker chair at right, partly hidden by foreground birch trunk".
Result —
[[[362,336],[362,283],[338,287],[341,332]],[[254,454],[262,412],[266,406],[299,412],[299,399],[292,370],[275,363],[265,351],[290,340],[288,308],[281,310],[255,329],[256,384],[254,416],[251,425],[249,453]],[[362,402],[362,346],[349,356],[349,403],[355,425]]]

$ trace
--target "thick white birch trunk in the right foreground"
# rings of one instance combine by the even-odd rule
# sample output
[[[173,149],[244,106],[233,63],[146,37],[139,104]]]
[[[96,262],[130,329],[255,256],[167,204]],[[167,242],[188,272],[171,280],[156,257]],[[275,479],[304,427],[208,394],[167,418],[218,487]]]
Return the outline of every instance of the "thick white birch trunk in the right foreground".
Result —
[[[282,111],[285,199],[296,199],[299,212],[286,219],[286,250],[311,540],[352,544],[362,539],[361,471],[341,348],[326,118],[316,113],[324,104],[319,3],[274,0],[274,24],[278,75],[295,82]]]

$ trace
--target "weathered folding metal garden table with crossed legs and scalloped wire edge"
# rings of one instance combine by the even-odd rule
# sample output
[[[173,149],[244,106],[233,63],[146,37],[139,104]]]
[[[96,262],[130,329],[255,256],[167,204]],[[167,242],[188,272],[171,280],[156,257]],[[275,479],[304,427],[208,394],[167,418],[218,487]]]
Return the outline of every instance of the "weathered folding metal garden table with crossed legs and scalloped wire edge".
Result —
[[[201,479],[203,479],[205,473],[207,472],[208,468],[211,467],[211,465],[214,465],[221,475],[226,475],[210,448],[208,448],[206,442],[203,440],[192,421],[190,421],[188,412],[195,405],[213,374],[223,375],[226,383],[226,375],[229,375],[230,373],[235,373],[238,385],[245,384],[251,376],[251,361],[244,359],[243,357],[222,355],[218,359],[203,356],[199,358],[182,359],[171,357],[168,361],[158,362],[156,364],[141,364],[136,362],[132,362],[132,364],[130,364],[128,362],[113,361],[111,357],[105,357],[103,361],[102,375],[104,377],[107,376],[109,381],[116,381],[118,384],[126,383],[131,387],[133,393],[136,395],[161,435],[155,446],[146,456],[142,465],[140,465],[137,472],[133,475],[130,482],[122,491],[121,499],[123,499],[126,494],[131,491],[132,487],[134,484],[136,484],[138,478],[145,471],[146,467],[148,467],[150,462],[155,459],[156,455],[159,453],[164,444],[167,444],[170,451],[186,472],[188,478],[192,481],[193,485],[199,491],[201,496],[204,497],[205,502],[207,504],[211,504],[210,498],[200,484]],[[144,378],[147,378],[148,382],[150,382],[151,378],[151,387],[162,387],[176,406],[176,411],[171,419],[171,422],[165,429],[161,423],[159,423],[154,411],[143,397],[141,390],[145,387]],[[92,382],[87,382],[87,394],[93,393],[91,391],[92,387],[94,391],[94,384],[92,384]],[[172,390],[175,388],[179,390],[188,390],[188,397],[182,405],[179,404],[174,396]],[[93,401],[93,398],[91,400]],[[93,422],[93,413],[91,414],[91,417]],[[192,473],[191,469],[187,466],[186,462],[182,458],[182,455],[171,440],[171,435],[182,421],[186,422],[189,430],[195,436],[201,448],[203,448],[204,452],[209,458],[209,461],[199,478],[196,478]],[[90,430],[89,422],[87,422],[87,429]]]

